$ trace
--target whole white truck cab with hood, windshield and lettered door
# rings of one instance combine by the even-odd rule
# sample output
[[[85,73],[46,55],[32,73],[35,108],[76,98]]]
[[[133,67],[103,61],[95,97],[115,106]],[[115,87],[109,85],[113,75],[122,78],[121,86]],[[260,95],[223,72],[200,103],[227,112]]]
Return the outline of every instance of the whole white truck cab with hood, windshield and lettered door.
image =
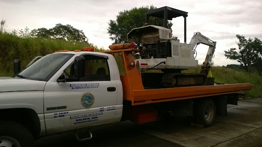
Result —
[[[53,53],[15,77],[0,81],[4,84],[0,88],[1,109],[33,110],[39,117],[41,136],[118,122],[122,116],[123,88],[110,54]]]

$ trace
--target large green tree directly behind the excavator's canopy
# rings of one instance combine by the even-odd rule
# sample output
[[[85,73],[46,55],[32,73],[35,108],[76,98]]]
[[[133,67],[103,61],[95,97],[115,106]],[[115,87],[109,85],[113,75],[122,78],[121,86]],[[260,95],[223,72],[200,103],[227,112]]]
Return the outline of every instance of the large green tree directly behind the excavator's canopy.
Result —
[[[156,9],[153,5],[142,6],[139,8],[132,8],[131,10],[124,10],[118,13],[116,20],[110,20],[107,33],[114,44],[127,41],[128,33],[137,27],[142,27],[145,24],[146,12],[148,10]],[[163,19],[150,17],[149,24],[163,26]],[[168,22],[168,28],[171,29],[172,23]]]

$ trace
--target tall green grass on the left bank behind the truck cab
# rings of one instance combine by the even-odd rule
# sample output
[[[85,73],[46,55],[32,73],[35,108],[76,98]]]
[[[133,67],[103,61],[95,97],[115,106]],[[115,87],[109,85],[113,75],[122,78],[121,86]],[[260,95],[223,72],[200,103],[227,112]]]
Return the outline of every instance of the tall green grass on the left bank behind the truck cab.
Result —
[[[32,37],[17,37],[11,34],[0,33],[0,76],[13,75],[13,61],[20,59],[21,69],[35,57],[53,53],[56,50],[82,49],[91,46],[90,43],[69,42],[66,40],[44,39]],[[95,46],[97,50],[97,46]]]

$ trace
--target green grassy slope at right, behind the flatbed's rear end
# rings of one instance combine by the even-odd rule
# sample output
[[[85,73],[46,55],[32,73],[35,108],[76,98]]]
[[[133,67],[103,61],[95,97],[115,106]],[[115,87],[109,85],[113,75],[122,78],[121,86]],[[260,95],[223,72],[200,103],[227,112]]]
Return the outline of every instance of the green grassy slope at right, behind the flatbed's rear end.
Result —
[[[184,70],[182,73],[199,73],[200,66],[196,70]],[[233,70],[226,67],[212,67],[212,77],[215,82],[223,84],[252,83],[254,87],[246,93],[245,97],[262,97],[262,76],[258,73],[247,73],[244,70]]]

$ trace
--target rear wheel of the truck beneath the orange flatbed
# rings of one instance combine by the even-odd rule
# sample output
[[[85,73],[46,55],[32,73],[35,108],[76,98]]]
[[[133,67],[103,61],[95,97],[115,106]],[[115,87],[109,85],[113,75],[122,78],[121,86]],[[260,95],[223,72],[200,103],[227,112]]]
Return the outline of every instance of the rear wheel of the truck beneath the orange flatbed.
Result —
[[[212,126],[216,117],[216,105],[211,99],[199,102],[195,110],[196,122],[205,127]]]

